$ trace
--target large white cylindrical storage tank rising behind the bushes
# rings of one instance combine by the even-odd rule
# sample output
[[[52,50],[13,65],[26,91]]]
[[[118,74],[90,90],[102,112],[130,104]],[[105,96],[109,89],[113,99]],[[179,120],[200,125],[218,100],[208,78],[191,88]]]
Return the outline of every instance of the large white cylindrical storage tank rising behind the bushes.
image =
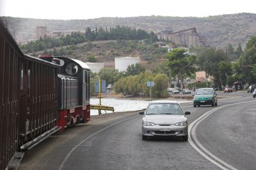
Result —
[[[136,65],[140,63],[140,58],[138,57],[125,57],[125,58],[115,58],[115,69],[119,72],[123,72],[127,69],[129,65]]]

